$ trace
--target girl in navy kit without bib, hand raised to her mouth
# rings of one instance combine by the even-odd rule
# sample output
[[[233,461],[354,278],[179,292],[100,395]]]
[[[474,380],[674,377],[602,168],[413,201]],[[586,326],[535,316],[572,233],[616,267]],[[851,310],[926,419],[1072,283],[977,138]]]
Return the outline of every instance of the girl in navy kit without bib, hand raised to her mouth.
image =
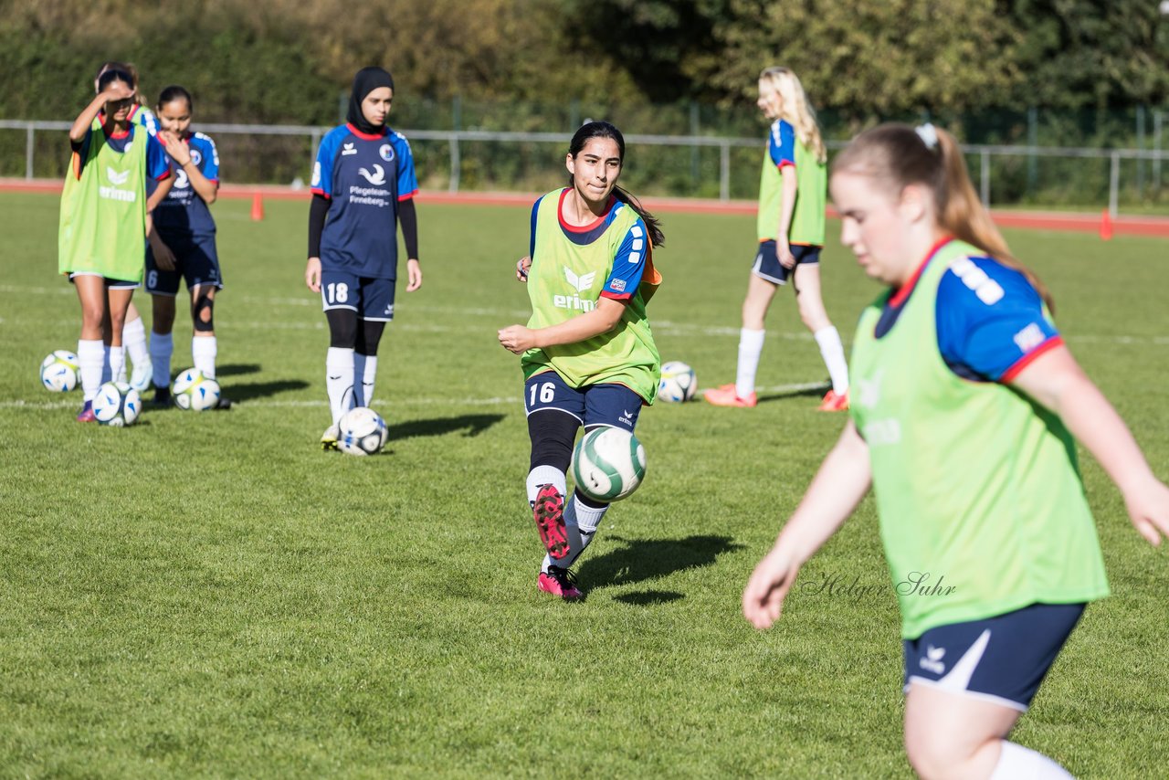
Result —
[[[191,132],[194,101],[182,87],[167,87],[158,98],[159,139],[171,157],[174,186],[154,209],[154,233],[146,249],[146,291],[153,302],[150,356],[153,364],[154,403],[171,402],[171,356],[174,353],[174,298],[179,277],[191,294],[194,334],[191,357],[195,368],[215,379],[219,343],[212,310],[223,289],[215,250],[215,220],[208,206],[219,194],[219,152],[215,141]],[[220,398],[217,409],[231,407]]]

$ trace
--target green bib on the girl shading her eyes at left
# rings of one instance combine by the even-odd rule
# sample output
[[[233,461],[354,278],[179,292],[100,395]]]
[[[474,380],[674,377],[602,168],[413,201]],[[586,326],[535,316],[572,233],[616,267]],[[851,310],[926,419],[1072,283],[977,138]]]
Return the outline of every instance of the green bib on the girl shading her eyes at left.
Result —
[[[139,137],[139,131],[141,137]],[[61,194],[57,269],[140,282],[146,257],[146,131],[132,127],[125,152],[94,122],[88,149],[76,152]],[[85,159],[79,159],[81,154]]]

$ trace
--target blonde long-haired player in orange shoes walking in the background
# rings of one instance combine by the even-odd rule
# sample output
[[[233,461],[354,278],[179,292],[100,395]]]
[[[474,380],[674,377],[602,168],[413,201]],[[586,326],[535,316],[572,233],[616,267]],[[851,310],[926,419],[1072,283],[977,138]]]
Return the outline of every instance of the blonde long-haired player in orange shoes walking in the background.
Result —
[[[759,181],[759,253],[742,302],[739,368],[733,385],[706,391],[704,396],[715,406],[755,406],[763,320],[775,291],[791,276],[800,318],[816,337],[832,379],[819,409],[842,412],[849,408],[849,368],[841,334],[828,319],[819,291],[828,152],[803,85],[787,68],[768,68],[759,75],[756,105],[773,122]]]

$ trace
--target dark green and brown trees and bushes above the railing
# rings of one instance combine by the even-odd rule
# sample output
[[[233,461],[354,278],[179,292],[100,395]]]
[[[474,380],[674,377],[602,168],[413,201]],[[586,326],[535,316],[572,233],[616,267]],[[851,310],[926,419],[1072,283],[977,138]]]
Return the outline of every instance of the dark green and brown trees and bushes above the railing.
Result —
[[[0,117],[74,116],[105,60],[240,123],[331,124],[369,63],[403,103],[743,106],[787,64],[850,123],[1169,104],[1156,0],[0,0]]]

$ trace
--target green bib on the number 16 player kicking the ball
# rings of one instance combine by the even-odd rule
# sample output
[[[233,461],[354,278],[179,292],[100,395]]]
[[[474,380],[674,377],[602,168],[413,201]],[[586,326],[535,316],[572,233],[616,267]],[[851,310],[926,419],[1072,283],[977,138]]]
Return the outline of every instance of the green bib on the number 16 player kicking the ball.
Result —
[[[601,290],[613,270],[613,261],[637,214],[622,202],[606,230],[592,243],[569,241],[560,227],[560,189],[540,199],[535,218],[535,246],[528,270],[527,292],[532,301],[532,329],[558,325],[596,309]],[[572,387],[601,382],[625,385],[653,402],[662,380],[662,359],[645,316],[646,289],[652,265],[625,305],[617,326],[586,341],[528,350],[521,358],[524,378],[554,368]]]

